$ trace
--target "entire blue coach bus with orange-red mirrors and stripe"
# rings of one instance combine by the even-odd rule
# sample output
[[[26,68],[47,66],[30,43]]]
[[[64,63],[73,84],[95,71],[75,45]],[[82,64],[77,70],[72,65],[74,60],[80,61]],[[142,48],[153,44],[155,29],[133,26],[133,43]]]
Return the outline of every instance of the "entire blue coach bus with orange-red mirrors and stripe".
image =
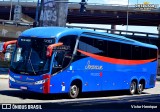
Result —
[[[9,87],[44,94],[128,90],[141,94],[155,87],[158,48],[124,36],[63,28],[28,29],[15,44]]]

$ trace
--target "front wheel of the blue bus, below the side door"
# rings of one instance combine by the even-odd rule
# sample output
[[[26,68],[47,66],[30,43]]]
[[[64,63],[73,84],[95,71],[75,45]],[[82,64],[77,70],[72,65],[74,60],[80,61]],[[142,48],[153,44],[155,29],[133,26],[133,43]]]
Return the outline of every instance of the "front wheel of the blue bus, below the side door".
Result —
[[[75,84],[72,84],[70,86],[69,97],[70,98],[77,98],[78,95],[79,95],[79,87]]]

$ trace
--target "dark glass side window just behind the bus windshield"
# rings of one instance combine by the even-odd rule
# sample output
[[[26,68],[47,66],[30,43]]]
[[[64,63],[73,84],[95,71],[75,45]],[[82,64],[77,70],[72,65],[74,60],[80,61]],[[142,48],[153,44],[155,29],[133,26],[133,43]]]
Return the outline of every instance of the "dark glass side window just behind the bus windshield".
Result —
[[[59,43],[63,43],[63,45],[54,49],[52,73],[56,73],[69,66],[75,48],[76,36],[64,36],[60,38]]]

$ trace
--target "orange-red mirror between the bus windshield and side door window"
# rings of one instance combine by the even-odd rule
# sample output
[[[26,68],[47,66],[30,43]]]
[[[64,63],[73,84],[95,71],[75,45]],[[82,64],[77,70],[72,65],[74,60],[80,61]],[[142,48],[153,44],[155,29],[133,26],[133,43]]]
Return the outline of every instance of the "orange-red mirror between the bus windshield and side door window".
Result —
[[[58,47],[58,46],[62,46],[63,43],[56,43],[56,44],[51,44],[47,47],[47,52],[46,52],[46,56],[47,57],[51,57],[52,56],[52,52],[53,52],[53,49],[55,47]]]

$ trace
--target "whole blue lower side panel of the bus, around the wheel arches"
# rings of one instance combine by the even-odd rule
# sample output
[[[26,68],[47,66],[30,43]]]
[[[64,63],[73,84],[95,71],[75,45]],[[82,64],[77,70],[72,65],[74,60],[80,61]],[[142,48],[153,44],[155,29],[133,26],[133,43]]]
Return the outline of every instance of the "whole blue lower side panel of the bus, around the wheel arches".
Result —
[[[76,79],[82,81],[83,92],[129,89],[134,79],[138,82],[144,79],[145,87],[152,88],[155,86],[156,66],[156,61],[128,66],[84,58],[73,62],[63,72],[52,76],[50,92],[67,93],[72,81]]]

